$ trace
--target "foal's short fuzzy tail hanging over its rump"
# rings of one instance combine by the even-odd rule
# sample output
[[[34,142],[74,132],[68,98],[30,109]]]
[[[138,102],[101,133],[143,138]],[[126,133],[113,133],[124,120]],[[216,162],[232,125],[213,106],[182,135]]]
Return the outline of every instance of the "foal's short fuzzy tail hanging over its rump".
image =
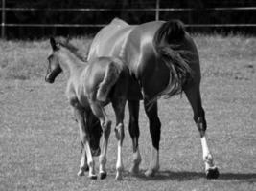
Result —
[[[97,92],[97,100],[106,101],[109,91],[117,82],[119,75],[121,74],[121,65],[123,63],[121,60],[115,58],[109,62],[105,68],[105,76],[103,81],[99,85]]]

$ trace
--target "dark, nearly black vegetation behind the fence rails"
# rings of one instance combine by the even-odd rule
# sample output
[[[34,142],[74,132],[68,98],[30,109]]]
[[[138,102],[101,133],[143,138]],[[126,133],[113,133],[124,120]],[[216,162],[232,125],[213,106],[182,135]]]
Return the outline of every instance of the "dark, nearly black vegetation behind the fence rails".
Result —
[[[7,11],[6,23],[17,24],[107,24],[120,17],[130,24],[155,19],[154,11],[49,11],[58,8],[155,8],[156,0],[6,0],[7,8],[37,8],[43,11]],[[256,11],[207,11],[207,8],[255,7],[255,0],[160,0],[160,8],[194,8],[196,11],[160,11],[161,20],[181,19],[186,24],[255,24]],[[45,9],[45,10],[44,10]],[[255,27],[190,28],[192,32],[252,33]],[[96,28],[7,27],[9,38],[81,35]]]

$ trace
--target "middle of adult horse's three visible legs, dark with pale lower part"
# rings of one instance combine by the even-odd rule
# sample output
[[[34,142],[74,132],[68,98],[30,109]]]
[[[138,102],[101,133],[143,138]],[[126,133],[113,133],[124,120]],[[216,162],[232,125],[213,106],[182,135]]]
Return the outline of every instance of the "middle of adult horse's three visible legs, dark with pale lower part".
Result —
[[[147,117],[150,120],[150,132],[151,132],[151,164],[149,169],[145,172],[147,177],[152,177],[159,170],[159,142],[161,134],[161,122],[157,114],[157,102],[149,104],[144,100],[144,107]]]

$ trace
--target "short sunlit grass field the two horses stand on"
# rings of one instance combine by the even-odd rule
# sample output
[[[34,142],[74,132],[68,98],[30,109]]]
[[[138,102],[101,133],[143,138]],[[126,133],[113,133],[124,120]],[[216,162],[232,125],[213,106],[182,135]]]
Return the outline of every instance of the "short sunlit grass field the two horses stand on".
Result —
[[[48,40],[0,41],[0,190],[256,190],[256,39],[196,35],[201,58],[203,106],[218,180],[204,178],[198,130],[185,96],[159,101],[162,121],[160,172],[143,176],[150,162],[148,120],[140,112],[141,173],[128,174],[131,140],[124,141],[125,178],[114,180],[116,139],[107,154],[108,177],[76,176],[80,162],[78,127],[64,96],[64,75],[44,82]],[[72,42],[85,52],[90,39]],[[110,108],[107,110],[113,119]]]

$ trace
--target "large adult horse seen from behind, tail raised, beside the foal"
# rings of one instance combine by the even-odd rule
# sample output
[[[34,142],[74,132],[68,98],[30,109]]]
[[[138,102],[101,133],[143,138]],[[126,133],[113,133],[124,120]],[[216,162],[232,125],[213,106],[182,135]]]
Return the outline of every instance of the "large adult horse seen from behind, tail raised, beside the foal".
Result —
[[[153,176],[159,169],[161,131],[157,99],[184,91],[200,134],[206,177],[218,178],[219,171],[206,141],[206,120],[199,90],[201,74],[198,50],[183,24],[171,20],[128,25],[116,18],[98,32],[92,41],[87,59],[90,61],[99,56],[121,57],[128,65],[128,129],[133,146],[131,173],[139,171],[141,162],[138,144],[139,101],[144,100],[152,141],[151,163],[145,174]]]

